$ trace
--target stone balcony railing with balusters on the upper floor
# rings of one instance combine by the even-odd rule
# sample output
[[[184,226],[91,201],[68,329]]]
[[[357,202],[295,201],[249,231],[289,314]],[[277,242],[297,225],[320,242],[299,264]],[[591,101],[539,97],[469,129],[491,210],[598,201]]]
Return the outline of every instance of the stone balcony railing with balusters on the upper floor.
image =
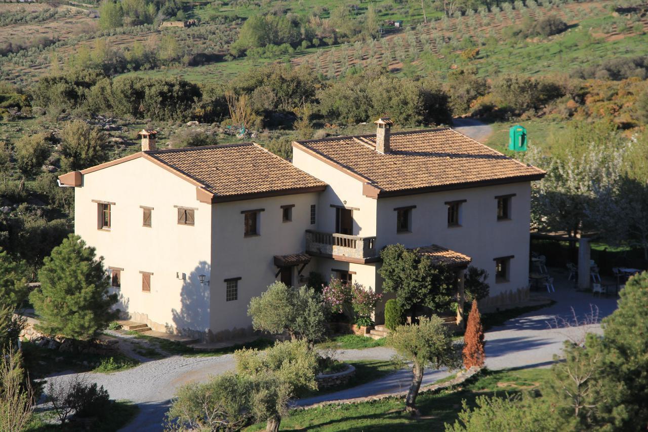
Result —
[[[375,258],[376,237],[334,234],[306,230],[306,250],[323,256],[346,256],[349,258]]]

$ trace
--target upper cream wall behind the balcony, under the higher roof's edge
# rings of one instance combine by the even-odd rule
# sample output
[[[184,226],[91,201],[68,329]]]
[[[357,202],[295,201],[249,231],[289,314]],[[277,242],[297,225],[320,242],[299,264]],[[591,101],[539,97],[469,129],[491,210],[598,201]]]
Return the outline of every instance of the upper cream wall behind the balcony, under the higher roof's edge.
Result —
[[[360,209],[353,211],[353,235],[376,235],[376,200],[362,195],[362,182],[295,147],[292,163],[329,185],[319,195],[317,230],[335,232],[332,204]]]

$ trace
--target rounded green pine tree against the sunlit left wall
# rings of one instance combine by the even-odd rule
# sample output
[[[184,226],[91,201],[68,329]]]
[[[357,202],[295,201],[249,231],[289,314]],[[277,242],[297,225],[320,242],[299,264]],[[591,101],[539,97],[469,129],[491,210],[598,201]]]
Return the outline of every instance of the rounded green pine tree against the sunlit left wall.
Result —
[[[30,295],[40,316],[37,330],[87,340],[116,318],[111,306],[117,294],[108,294],[103,258],[95,259],[95,248],[78,235],[70,234],[52,250],[38,278],[41,287]]]

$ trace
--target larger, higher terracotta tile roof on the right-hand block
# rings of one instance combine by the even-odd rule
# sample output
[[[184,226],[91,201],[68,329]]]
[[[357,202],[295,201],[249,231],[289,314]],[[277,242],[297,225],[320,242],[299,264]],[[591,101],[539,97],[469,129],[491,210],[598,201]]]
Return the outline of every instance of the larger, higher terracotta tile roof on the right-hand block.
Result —
[[[374,134],[297,141],[293,145],[377,188],[378,196],[544,176],[541,169],[504,156],[451,128],[392,132],[388,154],[376,152]]]

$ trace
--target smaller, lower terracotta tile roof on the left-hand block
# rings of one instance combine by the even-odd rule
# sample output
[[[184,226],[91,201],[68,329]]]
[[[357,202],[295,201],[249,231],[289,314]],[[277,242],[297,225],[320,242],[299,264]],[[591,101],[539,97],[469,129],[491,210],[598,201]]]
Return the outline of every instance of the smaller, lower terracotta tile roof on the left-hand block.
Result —
[[[326,187],[324,182],[254,143],[151,150],[145,156],[194,180],[212,193],[214,200]]]

